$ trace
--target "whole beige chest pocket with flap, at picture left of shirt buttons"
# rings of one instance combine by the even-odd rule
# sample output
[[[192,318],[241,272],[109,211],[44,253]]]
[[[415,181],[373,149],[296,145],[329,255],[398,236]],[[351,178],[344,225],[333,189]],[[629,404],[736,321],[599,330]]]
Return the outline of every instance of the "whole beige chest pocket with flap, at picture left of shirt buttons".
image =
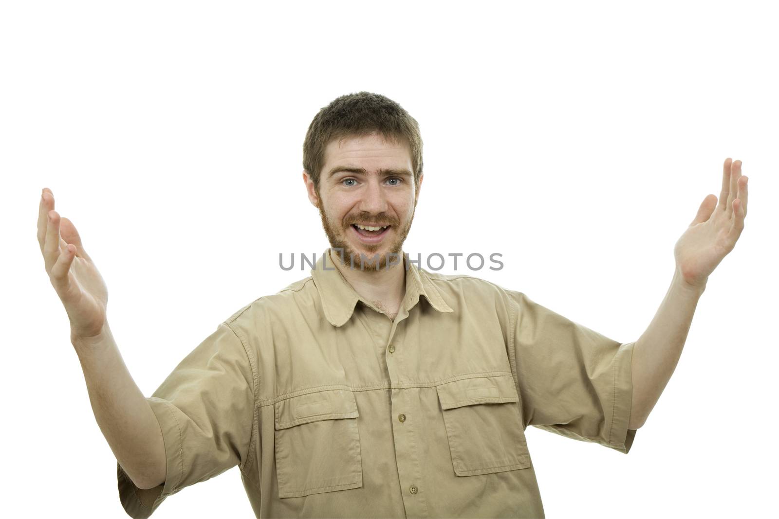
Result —
[[[351,391],[318,391],[276,403],[280,498],[362,486],[358,416]]]

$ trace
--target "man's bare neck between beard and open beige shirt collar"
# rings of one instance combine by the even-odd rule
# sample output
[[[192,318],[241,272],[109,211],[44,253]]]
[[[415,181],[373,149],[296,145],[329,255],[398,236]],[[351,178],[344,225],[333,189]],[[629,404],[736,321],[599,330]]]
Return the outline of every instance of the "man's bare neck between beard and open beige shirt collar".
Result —
[[[402,251],[400,254],[401,258],[404,258]],[[348,264],[343,265],[338,254],[330,254],[330,259],[355,292],[391,319],[395,318],[406,293],[405,258],[399,265],[392,265],[390,268],[382,268],[375,272],[366,272],[358,267],[351,268]]]

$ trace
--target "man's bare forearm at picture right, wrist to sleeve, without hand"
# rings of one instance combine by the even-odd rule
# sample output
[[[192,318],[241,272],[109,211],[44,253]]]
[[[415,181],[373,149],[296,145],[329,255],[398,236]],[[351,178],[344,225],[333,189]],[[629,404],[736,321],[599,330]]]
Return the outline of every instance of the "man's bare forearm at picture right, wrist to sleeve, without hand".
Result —
[[[629,429],[643,426],[671,379],[703,289],[705,286],[689,286],[675,272],[657,314],[633,345],[633,405]]]

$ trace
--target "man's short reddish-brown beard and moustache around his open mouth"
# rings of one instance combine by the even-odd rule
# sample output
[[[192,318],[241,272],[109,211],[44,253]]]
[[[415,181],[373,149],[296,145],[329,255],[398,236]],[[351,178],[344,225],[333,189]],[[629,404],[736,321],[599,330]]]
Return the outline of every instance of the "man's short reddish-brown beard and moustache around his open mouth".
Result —
[[[372,216],[368,212],[361,212],[357,215],[347,216],[344,223],[337,224],[331,222],[325,214],[322,208],[321,202],[317,205],[319,209],[319,216],[322,218],[322,226],[327,234],[327,240],[330,241],[330,247],[343,251],[343,256],[340,257],[341,265],[349,268],[360,268],[364,272],[376,272],[381,269],[387,268],[387,260],[390,258],[390,254],[397,254],[397,258],[400,262],[397,265],[403,265],[402,251],[403,242],[408,236],[408,231],[411,230],[411,222],[414,221],[414,212],[417,207],[414,204],[414,209],[411,211],[411,218],[403,227],[400,227],[400,221],[395,218],[386,216],[385,213],[380,212],[378,215]],[[346,237],[346,233],[351,232],[349,227],[352,223],[379,223],[380,226],[391,226],[387,232],[394,232],[394,240],[390,242],[389,248],[385,254],[379,254],[381,247],[387,247],[386,240],[382,240],[379,244],[361,244],[361,247],[365,249],[365,252],[355,251],[350,245]],[[337,251],[337,252],[338,252]],[[363,255],[361,255],[363,254]],[[378,254],[378,258],[375,255]],[[338,254],[336,254],[338,258]],[[365,258],[366,261],[363,261]],[[394,265],[394,263],[393,263]]]

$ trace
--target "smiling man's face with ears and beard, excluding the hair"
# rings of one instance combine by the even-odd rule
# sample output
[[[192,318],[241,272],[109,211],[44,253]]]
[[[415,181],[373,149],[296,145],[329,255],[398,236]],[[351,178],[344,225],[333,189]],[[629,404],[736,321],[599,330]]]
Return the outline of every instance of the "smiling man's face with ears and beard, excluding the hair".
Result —
[[[412,171],[408,146],[372,134],[330,142],[319,192],[303,172],[308,199],[319,208],[330,246],[343,248],[346,265],[354,258],[354,268],[375,271],[386,268],[387,254],[401,254],[419,195]],[[386,229],[363,230],[358,225]],[[360,254],[369,261],[361,265]],[[375,254],[378,265],[370,261]]]

